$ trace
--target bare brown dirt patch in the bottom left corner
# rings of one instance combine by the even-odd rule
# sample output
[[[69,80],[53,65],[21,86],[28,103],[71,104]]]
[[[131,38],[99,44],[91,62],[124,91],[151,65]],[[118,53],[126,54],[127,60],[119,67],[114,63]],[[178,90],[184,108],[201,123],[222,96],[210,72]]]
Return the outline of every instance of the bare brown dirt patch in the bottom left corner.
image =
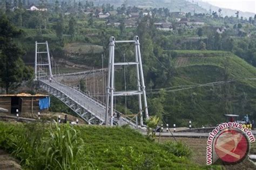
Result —
[[[6,153],[3,150],[0,150],[0,169],[17,170],[22,168],[21,165],[18,164],[18,161],[16,159],[10,157],[10,154]]]

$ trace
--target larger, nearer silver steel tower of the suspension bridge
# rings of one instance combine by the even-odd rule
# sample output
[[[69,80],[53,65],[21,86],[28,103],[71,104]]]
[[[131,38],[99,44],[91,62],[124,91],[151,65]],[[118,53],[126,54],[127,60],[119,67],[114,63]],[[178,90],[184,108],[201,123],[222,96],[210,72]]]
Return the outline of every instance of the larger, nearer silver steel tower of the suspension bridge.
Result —
[[[135,62],[114,62],[114,46],[115,43],[134,43],[134,57]],[[136,66],[136,79],[137,79],[137,90],[132,91],[114,91],[114,66],[125,66],[125,65],[135,65]],[[140,55],[140,44],[139,37],[135,36],[133,40],[116,41],[114,37],[110,37],[109,42],[109,69],[107,73],[107,84],[106,84],[106,125],[113,126],[113,104],[114,96],[132,96],[138,95],[139,100],[139,116],[140,125],[143,126],[143,112],[145,110],[145,118],[149,119],[149,112],[147,111],[147,100],[146,100],[146,90],[144,83],[143,67],[142,67],[142,57]],[[142,97],[144,101],[144,108],[142,108]],[[110,119],[109,119],[110,117]]]

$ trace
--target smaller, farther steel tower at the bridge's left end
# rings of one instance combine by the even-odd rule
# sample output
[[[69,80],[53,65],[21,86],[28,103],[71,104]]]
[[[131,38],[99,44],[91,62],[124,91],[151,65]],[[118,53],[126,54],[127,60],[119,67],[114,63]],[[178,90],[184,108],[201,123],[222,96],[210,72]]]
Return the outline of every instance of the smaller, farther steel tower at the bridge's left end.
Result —
[[[46,51],[40,52],[38,45],[46,45]],[[47,60],[48,62],[42,63],[38,59],[38,56],[40,54],[47,54]],[[35,80],[37,80],[38,77],[40,77],[40,73],[38,73],[38,67],[40,66],[49,66],[49,78],[52,79],[52,70],[51,70],[51,60],[50,60],[50,51],[49,51],[49,46],[48,46],[48,41],[45,42],[37,42],[36,41],[36,52],[35,52]],[[42,70],[40,70],[42,72]]]

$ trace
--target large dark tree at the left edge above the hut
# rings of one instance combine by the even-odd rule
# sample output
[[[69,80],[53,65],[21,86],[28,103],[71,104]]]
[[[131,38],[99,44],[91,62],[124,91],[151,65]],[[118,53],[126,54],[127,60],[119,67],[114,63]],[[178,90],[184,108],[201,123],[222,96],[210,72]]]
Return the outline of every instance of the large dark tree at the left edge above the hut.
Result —
[[[12,38],[20,34],[21,30],[12,26],[5,16],[0,18],[0,80],[6,93],[9,93],[10,87],[32,77],[31,69],[26,68],[21,59],[23,51],[12,42]]]

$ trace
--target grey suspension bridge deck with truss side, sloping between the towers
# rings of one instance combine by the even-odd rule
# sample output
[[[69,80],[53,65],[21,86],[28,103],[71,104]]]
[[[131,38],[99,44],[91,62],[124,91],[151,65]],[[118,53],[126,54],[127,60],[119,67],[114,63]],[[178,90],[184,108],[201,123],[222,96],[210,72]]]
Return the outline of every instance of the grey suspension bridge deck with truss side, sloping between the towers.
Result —
[[[50,82],[48,79],[41,79],[39,82],[44,90],[63,101],[86,122],[92,124],[103,124],[105,122],[104,103],[100,103],[100,101],[96,101],[90,96],[55,80]],[[120,115],[119,118],[114,118],[118,125],[129,124],[132,128],[137,128],[132,119],[124,117],[118,111],[115,111],[115,113]]]

